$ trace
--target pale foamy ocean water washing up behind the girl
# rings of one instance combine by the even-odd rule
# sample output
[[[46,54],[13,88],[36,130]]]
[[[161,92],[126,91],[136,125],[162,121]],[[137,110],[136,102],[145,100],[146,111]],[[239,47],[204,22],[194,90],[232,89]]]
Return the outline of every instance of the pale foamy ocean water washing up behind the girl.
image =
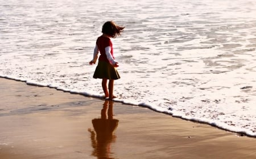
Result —
[[[254,0],[0,0],[0,76],[101,97],[89,61],[114,20],[115,101],[256,136],[255,15]]]

